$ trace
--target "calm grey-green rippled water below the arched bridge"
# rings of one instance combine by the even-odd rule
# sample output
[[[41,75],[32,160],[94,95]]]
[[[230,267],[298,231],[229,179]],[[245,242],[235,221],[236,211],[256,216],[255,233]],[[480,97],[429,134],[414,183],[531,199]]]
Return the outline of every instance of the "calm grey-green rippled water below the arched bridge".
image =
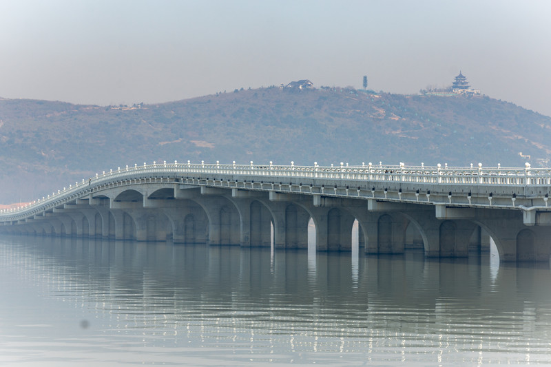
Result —
[[[0,365],[551,364],[551,271],[0,237]]]

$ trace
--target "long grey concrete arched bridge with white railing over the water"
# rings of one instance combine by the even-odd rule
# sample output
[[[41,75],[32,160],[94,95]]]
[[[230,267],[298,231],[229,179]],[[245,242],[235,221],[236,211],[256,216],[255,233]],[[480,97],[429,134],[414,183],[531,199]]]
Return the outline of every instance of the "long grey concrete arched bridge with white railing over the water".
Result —
[[[464,257],[494,240],[502,262],[549,262],[551,169],[134,165],[0,211],[0,232],[116,240]],[[273,233],[273,235],[272,235]],[[486,244],[486,245],[485,245]]]

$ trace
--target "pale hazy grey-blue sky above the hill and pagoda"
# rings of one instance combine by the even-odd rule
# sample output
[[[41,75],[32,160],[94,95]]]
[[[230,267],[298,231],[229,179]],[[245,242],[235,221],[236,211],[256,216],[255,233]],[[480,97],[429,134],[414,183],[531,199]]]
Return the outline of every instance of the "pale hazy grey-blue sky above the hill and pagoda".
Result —
[[[0,96],[156,103],[289,83],[473,88],[551,116],[551,1],[0,0]]]

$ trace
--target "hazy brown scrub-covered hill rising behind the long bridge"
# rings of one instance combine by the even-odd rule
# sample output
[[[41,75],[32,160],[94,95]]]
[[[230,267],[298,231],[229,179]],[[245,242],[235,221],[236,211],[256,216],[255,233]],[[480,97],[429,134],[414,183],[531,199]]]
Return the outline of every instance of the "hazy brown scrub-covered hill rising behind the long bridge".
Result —
[[[0,99],[0,202],[154,160],[536,167],[550,138],[550,117],[488,96],[269,87],[134,107]]]

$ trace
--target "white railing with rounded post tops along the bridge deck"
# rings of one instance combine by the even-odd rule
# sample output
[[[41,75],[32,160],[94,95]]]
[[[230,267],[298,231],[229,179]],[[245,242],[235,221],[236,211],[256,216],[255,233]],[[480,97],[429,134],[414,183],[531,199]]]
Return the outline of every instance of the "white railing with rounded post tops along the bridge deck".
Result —
[[[473,167],[441,167],[428,166],[406,166],[403,163],[399,165],[365,165],[349,166],[340,163],[340,165],[331,167],[322,167],[315,162],[312,166],[291,165],[237,165],[236,162],[230,165],[222,165],[219,162],[208,164],[201,162],[199,164],[187,163],[156,163],[152,165],[134,165],[119,167],[116,170],[102,174],[96,174],[88,180],[75,182],[75,185],[63,187],[63,189],[53,192],[39,200],[34,200],[28,205],[12,209],[1,209],[0,220],[12,220],[14,215],[25,216],[28,213],[43,211],[49,207],[60,205],[65,200],[74,200],[81,198],[87,193],[92,192],[95,187],[105,185],[108,182],[116,182],[125,178],[132,178],[136,175],[145,174],[148,177],[181,177],[189,174],[198,174],[201,178],[216,178],[209,175],[230,175],[230,176],[255,176],[275,178],[277,181],[284,178],[311,178],[311,179],[329,179],[329,180],[355,180],[360,182],[369,181],[394,181],[394,182],[415,182],[421,184],[435,185],[509,185],[513,187],[530,186],[550,186],[551,169],[540,168],[533,169],[527,163],[524,168],[502,168],[482,167],[480,164]]]

